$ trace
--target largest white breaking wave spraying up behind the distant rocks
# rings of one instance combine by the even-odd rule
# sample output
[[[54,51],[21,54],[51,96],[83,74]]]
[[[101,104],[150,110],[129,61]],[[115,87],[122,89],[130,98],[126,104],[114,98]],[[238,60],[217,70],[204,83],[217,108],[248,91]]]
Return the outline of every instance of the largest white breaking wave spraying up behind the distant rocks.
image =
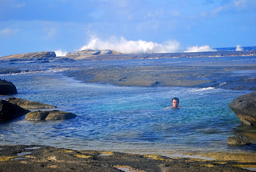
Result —
[[[176,52],[180,47],[177,41],[168,41],[164,44],[148,42],[144,40],[126,40],[126,38],[112,37],[109,40],[101,40],[93,36],[87,45],[80,50],[116,50],[122,54],[150,54],[150,53],[171,53]]]

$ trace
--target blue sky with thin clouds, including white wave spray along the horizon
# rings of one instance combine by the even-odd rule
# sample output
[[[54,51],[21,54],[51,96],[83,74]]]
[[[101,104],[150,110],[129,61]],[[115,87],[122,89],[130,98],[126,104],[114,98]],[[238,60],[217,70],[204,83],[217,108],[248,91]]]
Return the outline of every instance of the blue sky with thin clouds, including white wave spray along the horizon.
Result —
[[[0,0],[0,56],[256,46],[256,0]]]

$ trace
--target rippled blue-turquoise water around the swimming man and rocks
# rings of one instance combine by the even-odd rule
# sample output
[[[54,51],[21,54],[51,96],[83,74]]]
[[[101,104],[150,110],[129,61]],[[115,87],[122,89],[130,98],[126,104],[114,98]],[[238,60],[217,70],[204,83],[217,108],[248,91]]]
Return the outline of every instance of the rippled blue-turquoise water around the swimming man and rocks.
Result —
[[[255,63],[256,57],[202,58],[217,63]],[[241,60],[243,59],[243,60]],[[196,59],[184,58],[186,63]],[[27,121],[24,116],[0,122],[0,144],[40,144],[76,150],[106,150],[168,156],[174,152],[255,152],[256,146],[229,146],[227,138],[240,132],[256,133],[254,126],[243,125],[228,108],[236,97],[249,90],[196,87],[133,87],[86,84],[66,76],[78,64],[138,62],[177,63],[177,59],[109,60],[79,62],[1,62],[0,68],[22,69],[17,74],[0,74],[11,81],[18,94],[11,95],[57,106],[57,110],[78,115],[60,121]],[[198,63],[198,62],[197,62]],[[200,64],[199,64],[200,65]],[[238,72],[256,76],[255,71]],[[9,96],[0,96],[0,99]],[[172,97],[182,108],[164,110]]]

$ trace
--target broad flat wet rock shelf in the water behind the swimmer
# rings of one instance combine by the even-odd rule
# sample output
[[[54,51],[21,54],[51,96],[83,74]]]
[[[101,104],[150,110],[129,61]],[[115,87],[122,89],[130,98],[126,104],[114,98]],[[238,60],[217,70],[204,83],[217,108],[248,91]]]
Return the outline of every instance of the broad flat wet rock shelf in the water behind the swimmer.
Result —
[[[78,68],[68,76],[86,83],[112,84],[116,86],[187,86],[200,88],[224,88],[232,90],[256,90],[256,78],[239,76],[233,71],[256,70],[254,64],[202,63],[173,65],[112,64]]]

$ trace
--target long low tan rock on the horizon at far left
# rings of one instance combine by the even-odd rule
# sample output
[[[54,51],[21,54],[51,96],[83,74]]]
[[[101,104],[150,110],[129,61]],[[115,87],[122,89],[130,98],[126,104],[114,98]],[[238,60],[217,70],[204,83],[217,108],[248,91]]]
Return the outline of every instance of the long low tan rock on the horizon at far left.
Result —
[[[14,54],[11,56],[4,56],[1,59],[10,59],[10,58],[44,58],[44,57],[56,57],[55,52],[45,51],[45,52],[29,52],[25,54]]]

